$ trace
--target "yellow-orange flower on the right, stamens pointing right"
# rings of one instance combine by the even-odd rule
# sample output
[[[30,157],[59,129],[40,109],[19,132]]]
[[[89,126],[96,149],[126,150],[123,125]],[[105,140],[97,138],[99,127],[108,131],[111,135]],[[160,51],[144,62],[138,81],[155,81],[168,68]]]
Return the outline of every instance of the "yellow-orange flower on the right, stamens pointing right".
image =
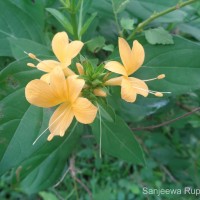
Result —
[[[136,70],[138,70],[144,62],[145,52],[142,45],[137,40],[135,40],[133,41],[133,47],[131,49],[123,38],[119,38],[118,42],[119,53],[123,65],[117,61],[110,61],[106,63],[105,68],[111,72],[121,74],[122,76],[112,78],[106,81],[105,84],[120,85],[121,97],[127,102],[134,102],[136,100],[137,94],[140,94],[144,97],[146,97],[148,93],[152,93],[156,96],[162,96],[162,93],[160,92],[150,91],[144,80],[129,77]],[[160,75],[158,77],[155,79],[164,78],[164,75]]]

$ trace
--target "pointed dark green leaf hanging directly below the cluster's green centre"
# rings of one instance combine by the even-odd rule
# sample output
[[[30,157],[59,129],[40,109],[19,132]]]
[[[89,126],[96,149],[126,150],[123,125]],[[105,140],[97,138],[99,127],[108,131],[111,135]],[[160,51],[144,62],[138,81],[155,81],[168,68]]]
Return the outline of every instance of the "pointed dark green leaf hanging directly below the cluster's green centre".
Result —
[[[133,132],[126,123],[116,116],[114,122],[107,120],[101,121],[102,127],[102,150],[106,153],[116,156],[122,160],[144,164],[144,155],[142,149],[134,138]],[[100,141],[100,120],[97,118],[91,125],[92,132],[97,142]]]

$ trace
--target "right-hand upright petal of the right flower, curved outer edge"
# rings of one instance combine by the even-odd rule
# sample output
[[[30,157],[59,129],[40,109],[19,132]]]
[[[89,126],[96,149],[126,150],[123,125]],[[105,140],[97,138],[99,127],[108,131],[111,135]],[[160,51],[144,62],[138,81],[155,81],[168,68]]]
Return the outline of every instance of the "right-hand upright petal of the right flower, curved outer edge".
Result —
[[[128,70],[128,75],[131,75],[142,66],[144,57],[145,52],[143,46],[137,40],[133,41],[133,48],[131,51],[132,67]]]

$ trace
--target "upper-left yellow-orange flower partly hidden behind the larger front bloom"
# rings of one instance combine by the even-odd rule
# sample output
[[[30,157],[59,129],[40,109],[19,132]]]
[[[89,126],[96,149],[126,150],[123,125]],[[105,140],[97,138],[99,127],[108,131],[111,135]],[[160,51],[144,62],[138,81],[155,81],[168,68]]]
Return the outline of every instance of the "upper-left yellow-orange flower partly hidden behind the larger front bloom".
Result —
[[[83,47],[81,41],[72,41],[69,43],[69,38],[66,32],[59,32],[55,34],[52,40],[52,49],[57,57],[58,61],[55,60],[44,60],[41,61],[37,59],[34,54],[28,54],[31,58],[39,61],[36,66],[39,70],[47,72],[47,74],[41,77],[42,80],[49,82],[50,73],[56,67],[60,67],[66,76],[75,74],[72,70],[68,68],[71,64],[72,59],[80,52]],[[30,66],[30,63],[29,65]]]

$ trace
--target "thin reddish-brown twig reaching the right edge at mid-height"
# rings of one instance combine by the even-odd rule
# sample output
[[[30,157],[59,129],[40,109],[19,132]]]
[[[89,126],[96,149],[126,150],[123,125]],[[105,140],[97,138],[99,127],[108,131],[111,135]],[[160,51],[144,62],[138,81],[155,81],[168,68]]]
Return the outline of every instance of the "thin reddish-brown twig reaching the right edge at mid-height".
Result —
[[[193,113],[195,113],[195,112],[197,112],[197,111],[200,111],[200,107],[195,108],[195,109],[191,110],[190,112],[185,113],[184,115],[181,115],[181,116],[179,116],[179,117],[176,117],[175,119],[171,119],[171,120],[169,120],[169,121],[165,121],[165,122],[163,122],[163,123],[161,123],[161,124],[157,124],[157,125],[153,125],[153,126],[146,126],[146,127],[132,128],[132,130],[133,130],[133,131],[143,131],[143,130],[152,130],[152,129],[160,128],[160,127],[162,127],[162,126],[166,126],[166,125],[171,124],[171,123],[173,123],[173,122],[175,122],[175,121],[178,121],[179,119],[182,119],[182,118],[184,118],[184,117],[187,117],[187,116],[189,116],[189,115],[192,115]]]

